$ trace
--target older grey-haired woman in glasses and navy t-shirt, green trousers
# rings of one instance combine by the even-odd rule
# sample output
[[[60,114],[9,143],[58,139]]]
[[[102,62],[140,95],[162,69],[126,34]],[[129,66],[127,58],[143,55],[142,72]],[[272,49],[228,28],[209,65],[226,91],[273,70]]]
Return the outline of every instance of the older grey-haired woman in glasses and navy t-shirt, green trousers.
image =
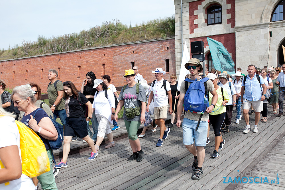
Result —
[[[52,149],[48,140],[56,140],[58,133],[46,112],[35,105],[37,101],[35,93],[29,84],[16,86],[12,92],[12,100],[19,111],[24,112],[21,122],[34,130],[46,146],[50,168],[52,168]],[[37,178],[42,189],[57,189],[52,170]]]

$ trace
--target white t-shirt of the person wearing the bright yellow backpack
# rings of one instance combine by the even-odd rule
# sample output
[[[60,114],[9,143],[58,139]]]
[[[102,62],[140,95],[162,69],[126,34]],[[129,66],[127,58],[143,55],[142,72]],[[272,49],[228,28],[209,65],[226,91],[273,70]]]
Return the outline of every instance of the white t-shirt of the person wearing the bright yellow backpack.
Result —
[[[20,134],[15,119],[7,116],[0,117],[0,123],[0,148],[17,145],[21,159]],[[19,179],[9,181],[8,185],[0,184],[1,190],[34,190],[34,188],[32,179],[23,173]]]

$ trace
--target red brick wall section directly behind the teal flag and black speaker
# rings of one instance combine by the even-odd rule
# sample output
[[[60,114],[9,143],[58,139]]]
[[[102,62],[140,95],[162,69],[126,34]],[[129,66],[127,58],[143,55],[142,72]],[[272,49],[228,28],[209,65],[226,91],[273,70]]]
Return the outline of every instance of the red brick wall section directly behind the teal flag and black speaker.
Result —
[[[231,53],[231,57],[233,58],[233,61],[235,62],[235,33],[220,34],[220,35],[208,36],[208,37],[221,42],[223,46],[227,49],[227,51]],[[195,41],[203,41],[205,47],[209,46],[207,42],[207,37],[190,38],[190,42],[195,42]],[[207,60],[207,55],[208,54],[205,55],[206,60]]]

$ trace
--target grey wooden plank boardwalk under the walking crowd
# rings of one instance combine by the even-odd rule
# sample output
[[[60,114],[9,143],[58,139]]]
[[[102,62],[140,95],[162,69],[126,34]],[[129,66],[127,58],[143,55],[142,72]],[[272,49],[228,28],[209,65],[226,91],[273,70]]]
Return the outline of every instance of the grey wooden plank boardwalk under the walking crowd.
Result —
[[[214,150],[214,134],[211,128],[210,143],[205,146],[203,178],[198,181],[191,179],[193,155],[183,145],[182,128],[175,126],[163,141],[162,147],[155,146],[159,130],[154,133],[146,132],[146,136],[140,139],[145,154],[142,162],[127,162],[132,154],[127,138],[115,141],[116,146],[110,149],[105,149],[105,145],[101,146],[99,155],[93,161],[87,160],[89,149],[70,155],[68,167],[60,169],[55,178],[58,189],[284,188],[285,140],[281,139],[285,135],[285,117],[276,117],[272,114],[272,107],[268,106],[268,122],[259,122],[258,133],[250,131],[243,134],[245,121],[242,119],[240,124],[235,124],[235,115],[233,113],[230,132],[223,134],[225,146],[216,159],[211,158]],[[251,126],[254,125],[254,117],[255,114],[250,115]],[[280,144],[276,145],[278,142]],[[267,184],[260,183],[251,186],[223,183],[223,177],[238,177],[240,172],[252,172],[258,177],[268,177],[268,180],[276,178],[278,173],[280,184],[267,187]]]

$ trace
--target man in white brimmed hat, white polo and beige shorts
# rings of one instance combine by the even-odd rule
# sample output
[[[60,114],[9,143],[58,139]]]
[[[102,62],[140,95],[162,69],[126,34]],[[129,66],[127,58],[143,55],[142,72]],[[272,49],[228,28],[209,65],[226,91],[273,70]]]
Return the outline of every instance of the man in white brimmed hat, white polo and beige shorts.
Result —
[[[167,117],[168,101],[170,105],[168,113],[172,114],[172,95],[170,83],[162,78],[165,71],[163,71],[162,68],[156,68],[152,73],[155,74],[156,80],[154,80],[150,86],[150,95],[148,98],[150,101],[147,103],[146,111],[149,112],[149,105],[154,97],[154,122],[160,127],[160,136],[156,144],[156,146],[159,147],[163,144],[162,139],[166,139],[170,132],[170,128],[165,127],[164,120]]]

